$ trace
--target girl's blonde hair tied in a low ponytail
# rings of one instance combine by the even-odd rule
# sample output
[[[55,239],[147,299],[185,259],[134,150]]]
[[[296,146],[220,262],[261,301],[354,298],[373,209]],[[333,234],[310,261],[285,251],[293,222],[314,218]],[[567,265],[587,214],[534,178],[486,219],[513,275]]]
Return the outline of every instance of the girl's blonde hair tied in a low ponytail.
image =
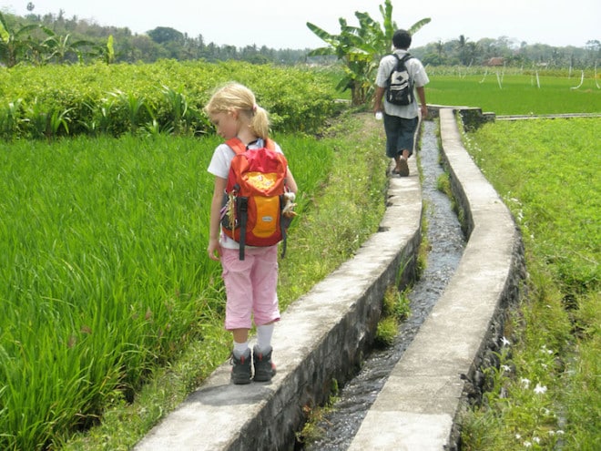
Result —
[[[269,135],[270,118],[267,111],[257,105],[255,95],[244,85],[230,82],[219,87],[204,109],[209,115],[239,111],[249,118],[250,131],[257,138],[266,139]]]

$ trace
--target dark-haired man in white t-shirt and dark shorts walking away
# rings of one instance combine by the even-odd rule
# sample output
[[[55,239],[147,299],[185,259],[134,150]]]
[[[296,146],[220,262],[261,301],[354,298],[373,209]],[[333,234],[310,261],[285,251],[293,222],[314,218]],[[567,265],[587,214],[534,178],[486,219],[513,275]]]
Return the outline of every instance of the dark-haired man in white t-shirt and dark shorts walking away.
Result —
[[[406,30],[395,31],[392,36],[393,53],[392,55],[382,57],[380,61],[376,77],[375,103],[373,105],[373,112],[376,115],[382,112],[382,97],[386,91],[387,82],[392,74],[392,70],[397,65],[397,56],[402,58],[407,55],[407,50],[411,46],[411,40],[412,37]],[[396,163],[392,172],[399,174],[401,177],[409,175],[407,159],[413,154],[413,140],[419,123],[419,114],[421,112],[422,118],[425,118],[428,114],[423,87],[430,81],[419,59],[412,56],[405,61],[405,66],[407,67],[409,78],[417,91],[421,108],[418,108],[415,96],[413,96],[411,103],[406,106],[393,105],[384,99],[383,107],[386,155],[394,159]]]

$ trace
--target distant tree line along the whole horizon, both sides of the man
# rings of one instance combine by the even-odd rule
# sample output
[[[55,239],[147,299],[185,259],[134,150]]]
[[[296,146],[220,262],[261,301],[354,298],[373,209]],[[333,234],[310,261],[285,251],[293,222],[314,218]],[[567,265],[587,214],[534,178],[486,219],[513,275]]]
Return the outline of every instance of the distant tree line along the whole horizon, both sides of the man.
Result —
[[[188,36],[166,26],[158,26],[146,34],[134,34],[127,27],[99,26],[76,15],[67,17],[62,10],[56,15],[36,15],[34,9],[30,3],[29,14],[25,17],[0,13],[0,63],[6,67],[18,63],[43,65],[97,59],[107,63],[205,59],[284,65],[330,63],[341,59],[335,54],[316,56],[311,49],[219,46],[207,43],[202,35]],[[590,40],[584,47],[556,47],[517,44],[506,36],[470,41],[469,37],[461,35],[450,41],[414,47],[412,53],[425,65],[432,66],[480,66],[494,61],[510,66],[586,68],[594,67],[601,59],[601,43]]]

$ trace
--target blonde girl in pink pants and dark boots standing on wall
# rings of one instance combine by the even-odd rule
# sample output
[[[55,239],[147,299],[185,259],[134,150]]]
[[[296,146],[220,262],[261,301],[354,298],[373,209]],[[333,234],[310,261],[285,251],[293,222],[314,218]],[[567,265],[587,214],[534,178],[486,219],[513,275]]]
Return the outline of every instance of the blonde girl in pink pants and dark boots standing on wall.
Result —
[[[269,118],[260,108],[248,87],[229,83],[213,94],[205,107],[220,137],[239,138],[248,149],[263,147],[268,138]],[[276,144],[276,150],[281,152]],[[221,261],[226,287],[225,327],[234,339],[231,380],[234,384],[250,384],[249,331],[251,317],[257,325],[257,344],[252,350],[254,380],[269,382],[275,374],[271,362],[271,335],[274,323],[280,320],[278,307],[278,246],[246,247],[245,259],[239,260],[239,244],[221,232],[220,210],[227,184],[229,165],[235,153],[220,144],[209,163],[209,173],[215,176],[215,188],[210,209],[209,257]],[[290,169],[286,185],[296,193],[297,186]]]

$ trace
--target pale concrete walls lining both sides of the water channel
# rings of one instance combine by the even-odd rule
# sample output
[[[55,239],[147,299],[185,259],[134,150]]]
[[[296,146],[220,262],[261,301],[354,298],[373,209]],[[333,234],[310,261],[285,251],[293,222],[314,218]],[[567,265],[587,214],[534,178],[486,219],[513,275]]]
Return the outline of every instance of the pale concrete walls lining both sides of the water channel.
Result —
[[[351,449],[443,449],[457,440],[454,420],[485,351],[498,343],[502,307],[523,277],[519,233],[494,190],[461,146],[453,110],[441,111],[453,188],[471,231],[453,280],[394,368]],[[383,292],[414,271],[422,196],[412,175],[394,177],[381,228],[351,261],[282,314],[273,345],[278,374],[269,384],[229,384],[221,365],[135,449],[292,449],[307,412],[361,364]]]

